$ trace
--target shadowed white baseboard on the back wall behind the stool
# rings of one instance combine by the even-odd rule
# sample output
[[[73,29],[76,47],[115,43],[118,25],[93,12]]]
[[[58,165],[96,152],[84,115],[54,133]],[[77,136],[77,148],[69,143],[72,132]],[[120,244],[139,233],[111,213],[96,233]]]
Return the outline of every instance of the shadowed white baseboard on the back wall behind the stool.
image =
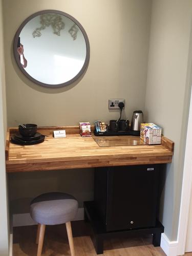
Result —
[[[77,215],[74,221],[84,220],[84,208],[78,208]],[[29,213],[27,214],[14,214],[13,227],[36,225],[37,223],[32,220]]]

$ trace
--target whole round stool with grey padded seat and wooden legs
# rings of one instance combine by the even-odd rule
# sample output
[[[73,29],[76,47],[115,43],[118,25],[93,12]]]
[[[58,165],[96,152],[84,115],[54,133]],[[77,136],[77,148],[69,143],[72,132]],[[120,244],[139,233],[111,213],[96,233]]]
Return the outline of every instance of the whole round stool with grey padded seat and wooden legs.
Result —
[[[71,221],[77,214],[77,200],[66,193],[52,192],[42,194],[32,200],[30,205],[31,218],[38,223],[36,243],[37,256],[41,255],[46,225],[66,223],[71,255],[75,256]]]

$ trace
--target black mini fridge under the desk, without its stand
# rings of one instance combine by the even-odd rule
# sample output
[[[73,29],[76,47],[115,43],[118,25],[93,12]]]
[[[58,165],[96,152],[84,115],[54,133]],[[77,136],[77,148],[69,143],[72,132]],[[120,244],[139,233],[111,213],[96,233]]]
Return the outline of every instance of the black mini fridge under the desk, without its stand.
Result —
[[[94,205],[106,231],[154,227],[159,165],[95,168]]]

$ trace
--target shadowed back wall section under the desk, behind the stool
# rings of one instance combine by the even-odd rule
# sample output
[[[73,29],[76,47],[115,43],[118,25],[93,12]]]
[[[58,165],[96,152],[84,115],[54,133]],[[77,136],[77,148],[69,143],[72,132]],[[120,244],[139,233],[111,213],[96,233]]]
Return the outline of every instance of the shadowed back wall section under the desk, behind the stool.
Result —
[[[11,212],[29,212],[31,200],[50,191],[72,194],[81,208],[83,201],[93,200],[93,188],[94,170],[91,168],[9,174]]]

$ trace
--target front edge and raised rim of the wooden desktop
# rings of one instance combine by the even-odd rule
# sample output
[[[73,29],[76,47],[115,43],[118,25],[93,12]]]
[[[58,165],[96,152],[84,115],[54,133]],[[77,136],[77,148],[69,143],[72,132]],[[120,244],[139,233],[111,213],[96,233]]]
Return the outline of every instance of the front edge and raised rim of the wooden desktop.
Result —
[[[92,131],[94,126],[91,127]],[[51,135],[54,130],[66,130],[67,134],[79,134],[79,126],[50,126],[50,127],[38,127],[38,131],[49,131]],[[68,159],[56,159],[58,161],[58,165],[55,165],[55,161],[53,159],[48,160],[41,160],[35,162],[26,162],[21,163],[18,162],[9,162],[9,141],[10,135],[18,131],[16,127],[10,127],[7,131],[7,138],[6,138],[6,165],[7,165],[7,172],[24,172],[30,170],[56,170],[56,169],[70,169],[70,168],[88,168],[88,167],[97,167],[97,166],[115,166],[115,165],[136,165],[136,164],[149,164],[149,163],[171,163],[172,162],[172,155],[174,152],[174,142],[172,140],[167,139],[166,137],[161,138],[161,145],[164,146],[167,150],[169,150],[169,155],[166,156],[148,156],[148,160],[144,156],[119,156],[112,157],[111,160],[107,160],[106,158],[97,159],[97,158],[86,158],[84,160],[74,159],[74,164],[72,164]],[[120,164],[119,164],[120,162]],[[49,163],[46,166],[46,163]],[[65,168],[63,168],[65,165]],[[13,168],[14,166],[14,168]],[[18,167],[19,168],[18,168]],[[14,169],[14,170],[13,170]]]

